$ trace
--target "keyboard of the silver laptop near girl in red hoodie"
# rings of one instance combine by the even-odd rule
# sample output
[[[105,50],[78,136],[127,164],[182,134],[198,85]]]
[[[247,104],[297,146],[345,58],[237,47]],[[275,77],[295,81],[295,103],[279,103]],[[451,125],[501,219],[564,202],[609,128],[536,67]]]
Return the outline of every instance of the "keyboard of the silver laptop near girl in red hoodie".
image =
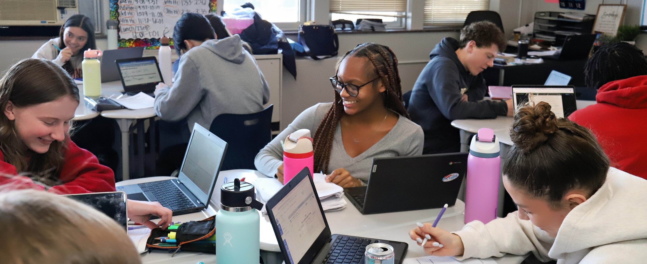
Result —
[[[142,188],[144,194],[148,196],[148,199],[157,201],[163,207],[171,210],[175,211],[194,207],[191,200],[171,181],[141,183],[139,187]]]

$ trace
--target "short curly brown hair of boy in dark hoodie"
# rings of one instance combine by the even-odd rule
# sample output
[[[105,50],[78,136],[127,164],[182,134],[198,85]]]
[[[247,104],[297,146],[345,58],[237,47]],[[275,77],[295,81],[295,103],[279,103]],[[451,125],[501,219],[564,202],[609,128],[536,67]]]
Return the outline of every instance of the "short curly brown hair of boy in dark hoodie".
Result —
[[[476,46],[479,48],[496,45],[501,52],[507,45],[501,29],[490,21],[474,22],[463,27],[461,29],[461,48],[465,48],[470,41],[476,42]]]

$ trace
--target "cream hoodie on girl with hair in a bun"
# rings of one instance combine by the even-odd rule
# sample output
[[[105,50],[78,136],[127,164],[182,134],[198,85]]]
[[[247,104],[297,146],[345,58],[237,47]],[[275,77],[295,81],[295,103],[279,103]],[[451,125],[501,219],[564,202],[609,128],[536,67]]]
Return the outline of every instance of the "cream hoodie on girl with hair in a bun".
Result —
[[[647,263],[647,180],[609,168],[604,185],[566,216],[555,238],[521,220],[517,212],[454,232],[465,253],[456,259],[532,252],[538,259],[570,263]]]

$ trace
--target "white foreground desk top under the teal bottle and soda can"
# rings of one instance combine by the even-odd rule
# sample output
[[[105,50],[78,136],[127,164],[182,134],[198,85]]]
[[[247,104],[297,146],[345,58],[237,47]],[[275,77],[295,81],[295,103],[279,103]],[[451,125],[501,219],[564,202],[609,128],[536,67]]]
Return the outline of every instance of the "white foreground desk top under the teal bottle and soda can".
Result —
[[[228,179],[245,177],[246,181],[254,181],[259,177],[265,177],[263,174],[256,170],[225,170],[220,172],[219,178],[227,177]],[[160,179],[172,179],[171,177],[151,177],[131,179],[116,183],[117,186],[145,183],[149,181],[157,181]],[[217,187],[214,192],[219,191]],[[258,196],[257,196],[258,197]],[[344,197],[345,199],[345,197]],[[432,222],[440,212],[440,209],[427,209],[415,210],[406,212],[392,212],[386,214],[369,214],[362,215],[356,210],[351,203],[347,201],[346,208],[335,211],[325,212],[328,225],[330,226],[333,234],[346,234],[351,236],[364,236],[368,238],[389,239],[393,241],[403,241],[409,244],[409,249],[406,254],[407,258],[416,258],[426,256],[424,251],[416,245],[415,241],[409,238],[409,230],[415,227],[416,222]],[[192,214],[184,214],[181,216],[173,216],[173,221],[195,221],[208,218],[215,214],[215,205],[219,201],[210,202],[210,207],[202,212],[195,212]],[[463,211],[465,203],[457,200],[454,207],[447,208],[443,214],[443,218],[439,221],[438,227],[446,230],[460,230],[464,223]],[[261,216],[260,222],[260,248],[261,250],[280,252],[280,248],[274,235],[274,230],[270,225],[267,215]],[[262,251],[261,251],[262,252]],[[498,263],[512,264],[521,263],[525,256],[506,255],[502,258],[495,258]],[[170,263],[171,254],[163,250],[151,250],[149,253],[142,254],[143,263]],[[215,263],[214,254],[203,254],[196,252],[181,252],[175,254],[172,258],[172,263],[187,263],[195,264],[198,261],[204,263]]]

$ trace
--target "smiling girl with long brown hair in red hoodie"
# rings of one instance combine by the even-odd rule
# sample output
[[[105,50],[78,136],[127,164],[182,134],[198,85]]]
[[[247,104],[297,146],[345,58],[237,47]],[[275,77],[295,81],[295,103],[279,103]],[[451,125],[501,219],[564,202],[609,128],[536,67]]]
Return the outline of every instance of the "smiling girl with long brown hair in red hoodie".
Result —
[[[115,190],[113,171],[69,136],[78,87],[60,66],[23,59],[0,79],[0,185],[58,194]]]

